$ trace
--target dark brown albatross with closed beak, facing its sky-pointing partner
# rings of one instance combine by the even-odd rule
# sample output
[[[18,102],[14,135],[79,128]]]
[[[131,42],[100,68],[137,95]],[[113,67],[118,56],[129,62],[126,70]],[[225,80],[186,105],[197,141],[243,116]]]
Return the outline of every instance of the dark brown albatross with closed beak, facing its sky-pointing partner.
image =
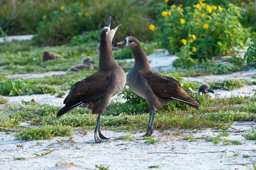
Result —
[[[148,129],[143,136],[152,135],[155,111],[162,110],[163,104],[181,101],[198,109],[200,104],[187,95],[175,78],[163,76],[151,70],[149,60],[139,40],[129,36],[122,42],[115,43],[115,46],[128,46],[135,59],[135,64],[129,71],[126,81],[134,93],[146,99],[150,108]]]

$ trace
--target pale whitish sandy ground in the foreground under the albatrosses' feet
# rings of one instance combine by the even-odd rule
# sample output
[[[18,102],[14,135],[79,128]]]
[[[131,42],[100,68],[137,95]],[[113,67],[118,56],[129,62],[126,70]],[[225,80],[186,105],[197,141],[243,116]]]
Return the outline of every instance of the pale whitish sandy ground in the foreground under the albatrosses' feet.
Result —
[[[255,122],[234,122],[232,125],[239,131],[255,127]],[[249,170],[256,162],[255,141],[246,140],[240,132],[230,130],[231,136],[222,137],[238,140],[241,145],[215,145],[205,142],[207,136],[216,136],[211,129],[193,133],[196,142],[182,140],[190,132],[180,136],[168,130],[170,135],[154,131],[153,136],[159,140],[156,144],[146,144],[142,133],[131,134],[132,141],[120,140],[118,137],[130,133],[103,131],[111,137],[107,142],[95,144],[93,132],[87,135],[75,133],[73,138],[54,137],[52,140],[14,140],[14,136],[0,132],[0,169],[1,170],[97,170],[95,165],[109,166],[110,170],[148,170],[149,166],[159,165],[160,170],[212,170],[231,169]],[[17,144],[22,144],[18,148]],[[36,154],[51,153],[44,156]],[[239,153],[238,156],[234,156]],[[243,155],[250,155],[244,158]],[[24,161],[14,158],[25,158]]]

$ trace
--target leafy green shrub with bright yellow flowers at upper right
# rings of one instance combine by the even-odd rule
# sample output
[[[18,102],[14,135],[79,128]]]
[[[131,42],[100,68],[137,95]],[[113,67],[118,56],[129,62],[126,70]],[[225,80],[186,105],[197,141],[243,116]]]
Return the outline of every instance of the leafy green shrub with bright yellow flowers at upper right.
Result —
[[[198,60],[242,49],[249,36],[238,17],[240,8],[206,4],[199,0],[193,7],[168,6],[159,3],[155,35],[169,53],[177,53],[177,67],[188,68]]]

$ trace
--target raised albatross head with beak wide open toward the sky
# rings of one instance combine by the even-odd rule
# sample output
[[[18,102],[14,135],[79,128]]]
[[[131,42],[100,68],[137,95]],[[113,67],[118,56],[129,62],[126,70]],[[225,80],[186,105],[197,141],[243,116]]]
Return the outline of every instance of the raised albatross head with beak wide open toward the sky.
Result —
[[[110,29],[110,23],[111,23],[111,17],[112,16],[113,16],[112,14],[109,15],[108,20],[106,22],[106,26],[102,29],[102,31],[100,33],[100,39],[101,40],[112,42],[117,28],[123,24],[123,23],[120,23],[115,28]]]

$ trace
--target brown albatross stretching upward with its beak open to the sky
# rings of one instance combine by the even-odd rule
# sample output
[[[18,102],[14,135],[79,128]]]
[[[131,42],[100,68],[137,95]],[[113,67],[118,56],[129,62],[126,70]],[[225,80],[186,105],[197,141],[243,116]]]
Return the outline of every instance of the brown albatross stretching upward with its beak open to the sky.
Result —
[[[97,125],[94,131],[96,143],[102,142],[98,138],[97,132],[101,139],[108,139],[100,131],[100,116],[105,111],[110,98],[124,88],[126,79],[124,70],[115,62],[111,50],[111,43],[115,31],[123,23],[110,30],[111,17],[112,15],[108,17],[106,26],[100,33],[101,45],[98,72],[75,83],[63,102],[66,105],[57,113],[57,117],[60,117],[77,107],[92,110],[92,114],[98,115]]]

